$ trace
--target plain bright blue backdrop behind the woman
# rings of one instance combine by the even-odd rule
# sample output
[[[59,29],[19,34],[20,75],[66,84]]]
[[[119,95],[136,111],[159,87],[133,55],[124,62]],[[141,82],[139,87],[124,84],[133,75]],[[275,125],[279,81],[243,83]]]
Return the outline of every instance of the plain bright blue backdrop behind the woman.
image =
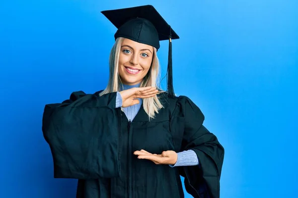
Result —
[[[1,198],[75,196],[75,180],[53,178],[44,105],[106,86],[116,29],[100,11],[143,4],[181,38],[175,92],[225,148],[221,198],[296,197],[297,0],[0,0]]]

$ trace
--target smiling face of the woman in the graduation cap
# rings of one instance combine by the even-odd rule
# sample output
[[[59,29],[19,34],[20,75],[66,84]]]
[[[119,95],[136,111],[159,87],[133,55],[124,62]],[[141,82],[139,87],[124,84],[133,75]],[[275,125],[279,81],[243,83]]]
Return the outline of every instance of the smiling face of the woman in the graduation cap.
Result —
[[[119,75],[125,85],[141,83],[149,71],[153,47],[124,39],[119,55]]]

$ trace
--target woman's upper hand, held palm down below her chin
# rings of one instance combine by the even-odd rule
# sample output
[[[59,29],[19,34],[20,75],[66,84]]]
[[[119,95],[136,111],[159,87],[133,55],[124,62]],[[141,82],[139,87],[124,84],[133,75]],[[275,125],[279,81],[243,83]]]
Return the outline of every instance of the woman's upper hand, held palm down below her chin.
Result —
[[[122,107],[128,107],[135,104],[139,104],[139,99],[145,99],[156,96],[158,90],[155,87],[139,87],[123,90],[119,93],[122,97]]]

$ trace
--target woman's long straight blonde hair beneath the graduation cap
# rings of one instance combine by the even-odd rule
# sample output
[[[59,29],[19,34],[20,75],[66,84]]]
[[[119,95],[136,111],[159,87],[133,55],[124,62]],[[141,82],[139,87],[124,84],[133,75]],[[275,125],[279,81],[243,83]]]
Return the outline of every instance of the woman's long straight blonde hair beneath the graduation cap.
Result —
[[[122,37],[117,38],[114,46],[111,49],[110,60],[109,60],[110,72],[109,72],[108,85],[105,88],[105,90],[103,90],[99,94],[99,96],[120,91],[121,79],[119,76],[118,67],[119,67],[119,54],[120,54],[120,49],[121,49],[123,40],[124,38]],[[160,65],[156,54],[157,50],[156,48],[153,48],[153,49],[154,49],[153,58],[152,58],[150,69],[147,75],[144,77],[142,83],[140,84],[140,87],[151,86],[151,87],[156,87],[156,89],[158,90],[161,90],[157,85],[157,82],[159,82],[159,78],[160,78]],[[149,120],[155,117],[155,114],[158,113],[159,109],[163,108],[157,95],[151,98],[143,99],[143,106],[144,106],[145,112],[149,116]]]

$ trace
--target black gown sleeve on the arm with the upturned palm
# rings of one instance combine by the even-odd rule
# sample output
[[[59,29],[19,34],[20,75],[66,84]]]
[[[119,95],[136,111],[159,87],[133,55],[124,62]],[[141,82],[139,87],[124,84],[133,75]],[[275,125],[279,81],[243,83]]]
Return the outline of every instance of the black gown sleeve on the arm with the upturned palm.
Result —
[[[200,162],[196,166],[179,167],[180,175],[185,178],[186,191],[194,198],[219,198],[223,146],[203,125],[205,117],[191,99],[179,97],[173,115],[175,128],[182,131],[178,145],[180,151],[194,150]]]

